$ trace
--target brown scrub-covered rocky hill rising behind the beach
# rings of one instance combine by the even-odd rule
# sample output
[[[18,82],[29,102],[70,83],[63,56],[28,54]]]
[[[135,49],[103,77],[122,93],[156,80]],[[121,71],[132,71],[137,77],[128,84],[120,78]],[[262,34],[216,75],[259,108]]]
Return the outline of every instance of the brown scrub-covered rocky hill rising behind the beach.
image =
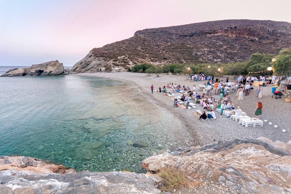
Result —
[[[291,45],[291,23],[222,20],[139,30],[134,36],[92,49],[75,72],[97,72],[105,65],[244,61],[254,52],[278,54]]]

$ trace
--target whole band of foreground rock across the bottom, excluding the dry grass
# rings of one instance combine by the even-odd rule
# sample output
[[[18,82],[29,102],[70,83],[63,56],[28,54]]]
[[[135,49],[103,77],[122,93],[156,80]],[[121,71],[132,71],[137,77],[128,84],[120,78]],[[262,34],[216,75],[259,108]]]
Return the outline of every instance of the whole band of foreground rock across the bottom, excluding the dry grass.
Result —
[[[172,168],[187,175],[187,189],[191,190],[187,193],[290,194],[290,148],[291,141],[272,142],[265,138],[179,147],[145,159],[142,165],[147,174],[75,172],[31,157],[0,156],[0,190],[54,194],[167,193],[160,190],[163,179],[156,175],[164,168]]]

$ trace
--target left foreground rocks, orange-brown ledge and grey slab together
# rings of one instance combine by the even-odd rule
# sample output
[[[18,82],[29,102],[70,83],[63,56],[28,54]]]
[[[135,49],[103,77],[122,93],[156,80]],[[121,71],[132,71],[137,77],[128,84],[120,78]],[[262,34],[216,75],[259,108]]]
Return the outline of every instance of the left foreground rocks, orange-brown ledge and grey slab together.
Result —
[[[159,194],[157,176],[133,172],[75,172],[25,156],[0,156],[0,193]]]

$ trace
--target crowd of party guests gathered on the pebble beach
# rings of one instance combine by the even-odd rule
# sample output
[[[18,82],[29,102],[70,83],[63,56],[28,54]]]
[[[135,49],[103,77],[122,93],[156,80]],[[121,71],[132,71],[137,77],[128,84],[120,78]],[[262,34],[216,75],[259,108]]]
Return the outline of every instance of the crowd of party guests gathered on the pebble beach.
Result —
[[[204,74],[195,74],[190,75],[191,81],[202,81],[206,80],[204,84],[200,83],[199,85],[193,85],[190,87],[189,85],[179,85],[174,83],[169,83],[165,85],[163,88],[159,87],[157,92],[163,93],[163,95],[173,94],[181,92],[182,96],[178,99],[174,99],[173,105],[178,107],[179,102],[186,102],[186,109],[188,109],[190,99],[192,99],[196,103],[200,103],[202,106],[202,114],[199,119],[216,119],[216,115],[214,110],[220,109],[220,114],[222,114],[223,110],[234,110],[236,115],[242,115],[242,109],[238,106],[235,109],[234,104],[231,101],[230,94],[233,91],[236,91],[237,100],[243,100],[243,96],[249,95],[250,91],[253,90],[253,82],[257,80],[263,81],[263,76],[260,76],[258,79],[254,76],[243,77],[239,75],[236,82],[231,82],[227,77],[226,82],[223,80],[214,81],[214,76],[212,75],[204,75]],[[276,79],[276,76],[272,77],[272,79]],[[199,88],[202,89],[203,92],[199,92]],[[153,93],[153,85],[151,86],[151,91]],[[218,95],[218,98],[215,99],[215,94]],[[258,98],[262,98],[262,85],[259,85],[256,89],[256,96]],[[263,105],[262,103],[258,103],[254,115],[258,118],[258,115],[262,114]],[[208,111],[208,114],[206,114]]]

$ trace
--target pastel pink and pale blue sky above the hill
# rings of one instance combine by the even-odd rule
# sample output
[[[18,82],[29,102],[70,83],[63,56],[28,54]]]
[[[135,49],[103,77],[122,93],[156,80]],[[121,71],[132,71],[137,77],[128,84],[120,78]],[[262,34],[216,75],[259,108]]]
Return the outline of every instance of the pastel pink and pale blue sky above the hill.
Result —
[[[58,59],[65,66],[92,48],[145,28],[223,19],[291,22],[290,0],[0,0],[0,66]]]

